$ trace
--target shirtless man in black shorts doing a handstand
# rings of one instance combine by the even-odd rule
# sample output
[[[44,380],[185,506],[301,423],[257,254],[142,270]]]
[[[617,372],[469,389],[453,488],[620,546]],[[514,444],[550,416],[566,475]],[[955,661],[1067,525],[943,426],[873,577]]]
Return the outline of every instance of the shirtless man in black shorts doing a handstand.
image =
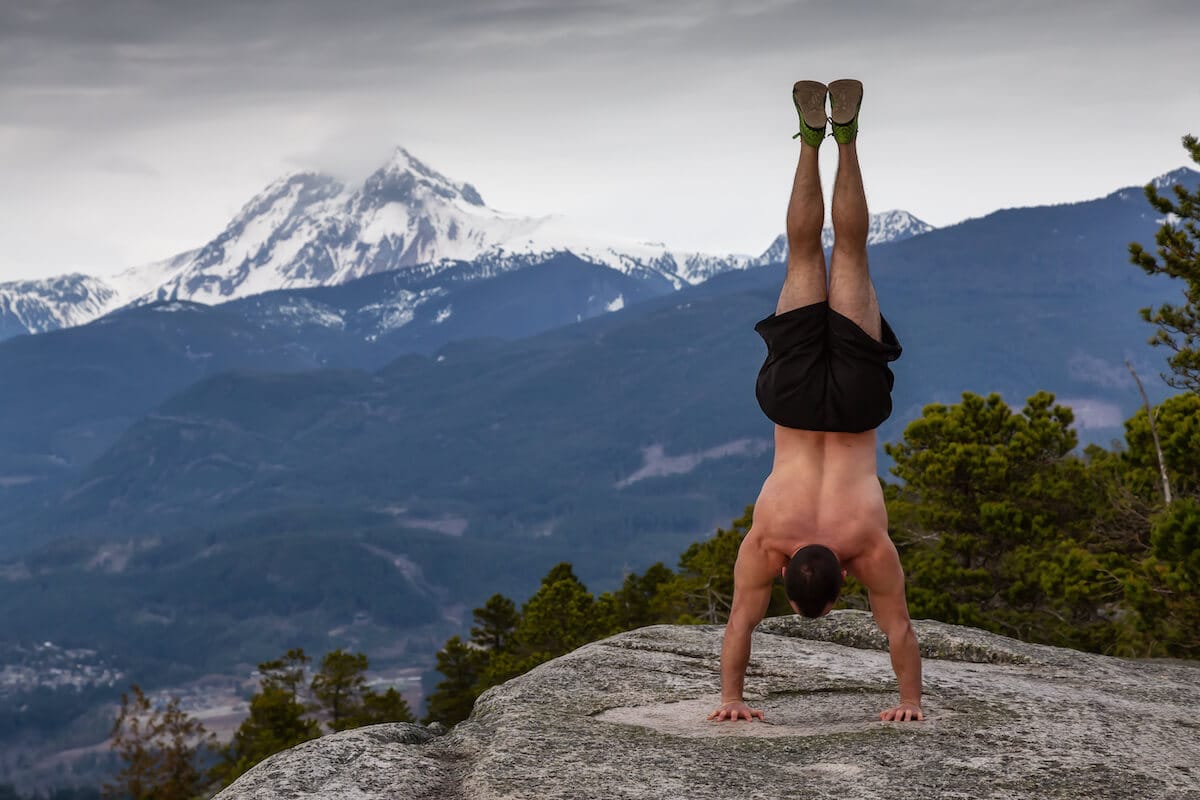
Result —
[[[787,277],[775,313],[755,326],[768,350],[756,393],[775,422],[775,462],[733,569],[721,706],[708,718],[763,718],[742,692],[750,634],[767,610],[775,576],[782,573],[797,613],[822,616],[850,573],[870,593],[900,684],[900,703],[880,718],[923,720],[920,654],[875,463],[875,428],[892,413],[888,362],[900,356],[900,344],[880,315],[866,269],[866,197],[854,144],[863,84],[800,80],[792,100],[802,144],[787,206]],[[828,285],[817,174],[827,121],[839,151]]]

